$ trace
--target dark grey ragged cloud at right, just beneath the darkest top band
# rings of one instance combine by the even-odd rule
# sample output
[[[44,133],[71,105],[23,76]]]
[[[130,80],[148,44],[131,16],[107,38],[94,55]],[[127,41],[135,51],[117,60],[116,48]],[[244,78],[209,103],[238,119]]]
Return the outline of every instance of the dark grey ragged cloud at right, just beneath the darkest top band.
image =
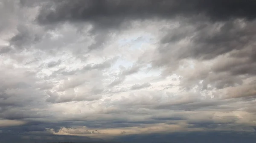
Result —
[[[242,21],[245,22],[245,21]],[[254,22],[249,22],[246,26],[241,26],[242,22],[228,21],[216,32],[209,34],[210,27],[207,26],[192,38],[196,43],[195,49],[190,53],[196,58],[210,59],[231,50],[239,50],[248,45],[255,38],[255,32],[250,29]],[[207,47],[207,48],[203,48]],[[194,53],[193,53],[194,52]]]

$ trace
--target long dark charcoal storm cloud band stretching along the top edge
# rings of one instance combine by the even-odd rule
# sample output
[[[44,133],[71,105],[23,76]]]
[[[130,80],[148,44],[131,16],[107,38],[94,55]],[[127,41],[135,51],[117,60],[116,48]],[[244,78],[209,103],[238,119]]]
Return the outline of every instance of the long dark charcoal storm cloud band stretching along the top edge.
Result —
[[[103,27],[115,27],[124,18],[169,18],[197,14],[205,14],[212,20],[251,20],[256,17],[255,0],[64,0],[50,4],[53,10],[47,10],[49,6],[43,8],[38,22],[51,24],[77,20],[97,22]]]

